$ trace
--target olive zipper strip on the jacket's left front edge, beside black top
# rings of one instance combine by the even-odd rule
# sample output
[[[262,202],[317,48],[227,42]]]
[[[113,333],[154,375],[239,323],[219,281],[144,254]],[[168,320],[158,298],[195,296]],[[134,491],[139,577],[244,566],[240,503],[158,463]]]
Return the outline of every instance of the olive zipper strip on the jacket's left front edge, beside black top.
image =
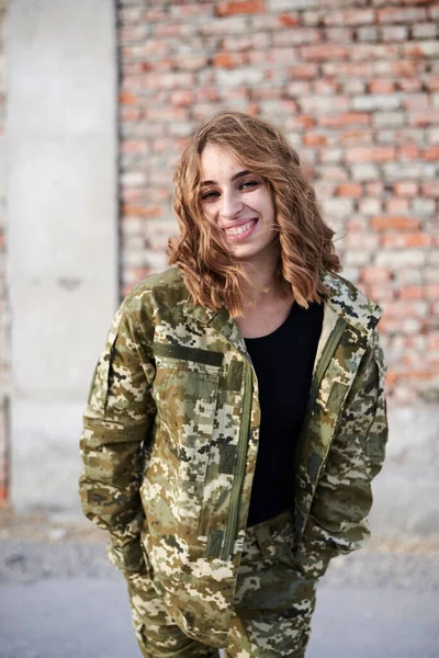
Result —
[[[251,412],[251,366],[248,364],[246,367],[245,375],[245,396],[244,396],[244,408],[243,408],[243,424],[239,432],[239,445],[238,445],[238,457],[236,463],[236,474],[234,478],[234,486],[230,495],[230,509],[228,513],[227,527],[224,537],[223,551],[221,553],[221,559],[228,560],[233,552],[233,546],[236,538],[236,526],[238,522],[240,490],[246,474],[246,460],[247,460],[247,445],[250,427],[250,412]]]

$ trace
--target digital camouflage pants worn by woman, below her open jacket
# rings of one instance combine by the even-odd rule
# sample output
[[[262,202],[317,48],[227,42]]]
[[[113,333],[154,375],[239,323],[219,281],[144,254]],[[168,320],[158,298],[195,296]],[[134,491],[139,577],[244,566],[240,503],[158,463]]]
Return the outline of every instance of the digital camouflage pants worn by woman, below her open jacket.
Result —
[[[317,581],[296,569],[290,512],[247,530],[225,656],[303,658]],[[146,658],[217,658],[218,650],[188,637],[147,577],[127,576],[133,623]]]

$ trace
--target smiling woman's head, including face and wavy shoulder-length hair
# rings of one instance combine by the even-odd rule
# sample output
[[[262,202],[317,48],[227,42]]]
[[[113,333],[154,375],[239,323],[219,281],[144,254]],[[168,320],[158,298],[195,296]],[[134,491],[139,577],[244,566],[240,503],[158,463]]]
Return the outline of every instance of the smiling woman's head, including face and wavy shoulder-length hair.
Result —
[[[181,236],[171,240],[170,262],[179,264],[201,304],[219,308],[225,299],[234,317],[243,316],[248,298],[243,282],[263,290],[262,263],[279,292],[293,293],[306,308],[324,293],[318,268],[341,269],[334,231],[322,218],[300,158],[269,122],[236,112],[216,115],[189,141],[175,183]],[[230,239],[250,220],[256,224],[243,238]],[[255,259],[259,245],[267,253]]]

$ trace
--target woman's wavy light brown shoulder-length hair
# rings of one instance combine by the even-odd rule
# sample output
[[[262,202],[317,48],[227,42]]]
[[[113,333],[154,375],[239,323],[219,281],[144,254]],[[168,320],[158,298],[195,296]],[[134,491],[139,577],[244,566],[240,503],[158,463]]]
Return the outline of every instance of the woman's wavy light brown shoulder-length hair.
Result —
[[[275,207],[280,259],[274,273],[282,294],[301,306],[327,293],[319,268],[341,270],[334,231],[325,224],[299,155],[269,122],[240,112],[221,112],[206,121],[187,144],[175,169],[173,208],[180,236],[169,240],[170,264],[178,264],[195,303],[233,317],[244,313],[243,280],[248,273],[234,259],[216,224],[203,212],[201,155],[207,144],[226,148],[244,169],[267,182]]]

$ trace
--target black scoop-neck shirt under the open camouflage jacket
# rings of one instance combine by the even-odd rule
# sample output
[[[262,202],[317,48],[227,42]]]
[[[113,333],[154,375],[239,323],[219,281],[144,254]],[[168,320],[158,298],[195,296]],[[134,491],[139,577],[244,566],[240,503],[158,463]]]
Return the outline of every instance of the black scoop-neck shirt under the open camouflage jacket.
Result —
[[[260,443],[248,525],[275,517],[293,504],[294,449],[309,396],[323,304],[293,304],[286,320],[262,338],[246,338],[259,385]]]

